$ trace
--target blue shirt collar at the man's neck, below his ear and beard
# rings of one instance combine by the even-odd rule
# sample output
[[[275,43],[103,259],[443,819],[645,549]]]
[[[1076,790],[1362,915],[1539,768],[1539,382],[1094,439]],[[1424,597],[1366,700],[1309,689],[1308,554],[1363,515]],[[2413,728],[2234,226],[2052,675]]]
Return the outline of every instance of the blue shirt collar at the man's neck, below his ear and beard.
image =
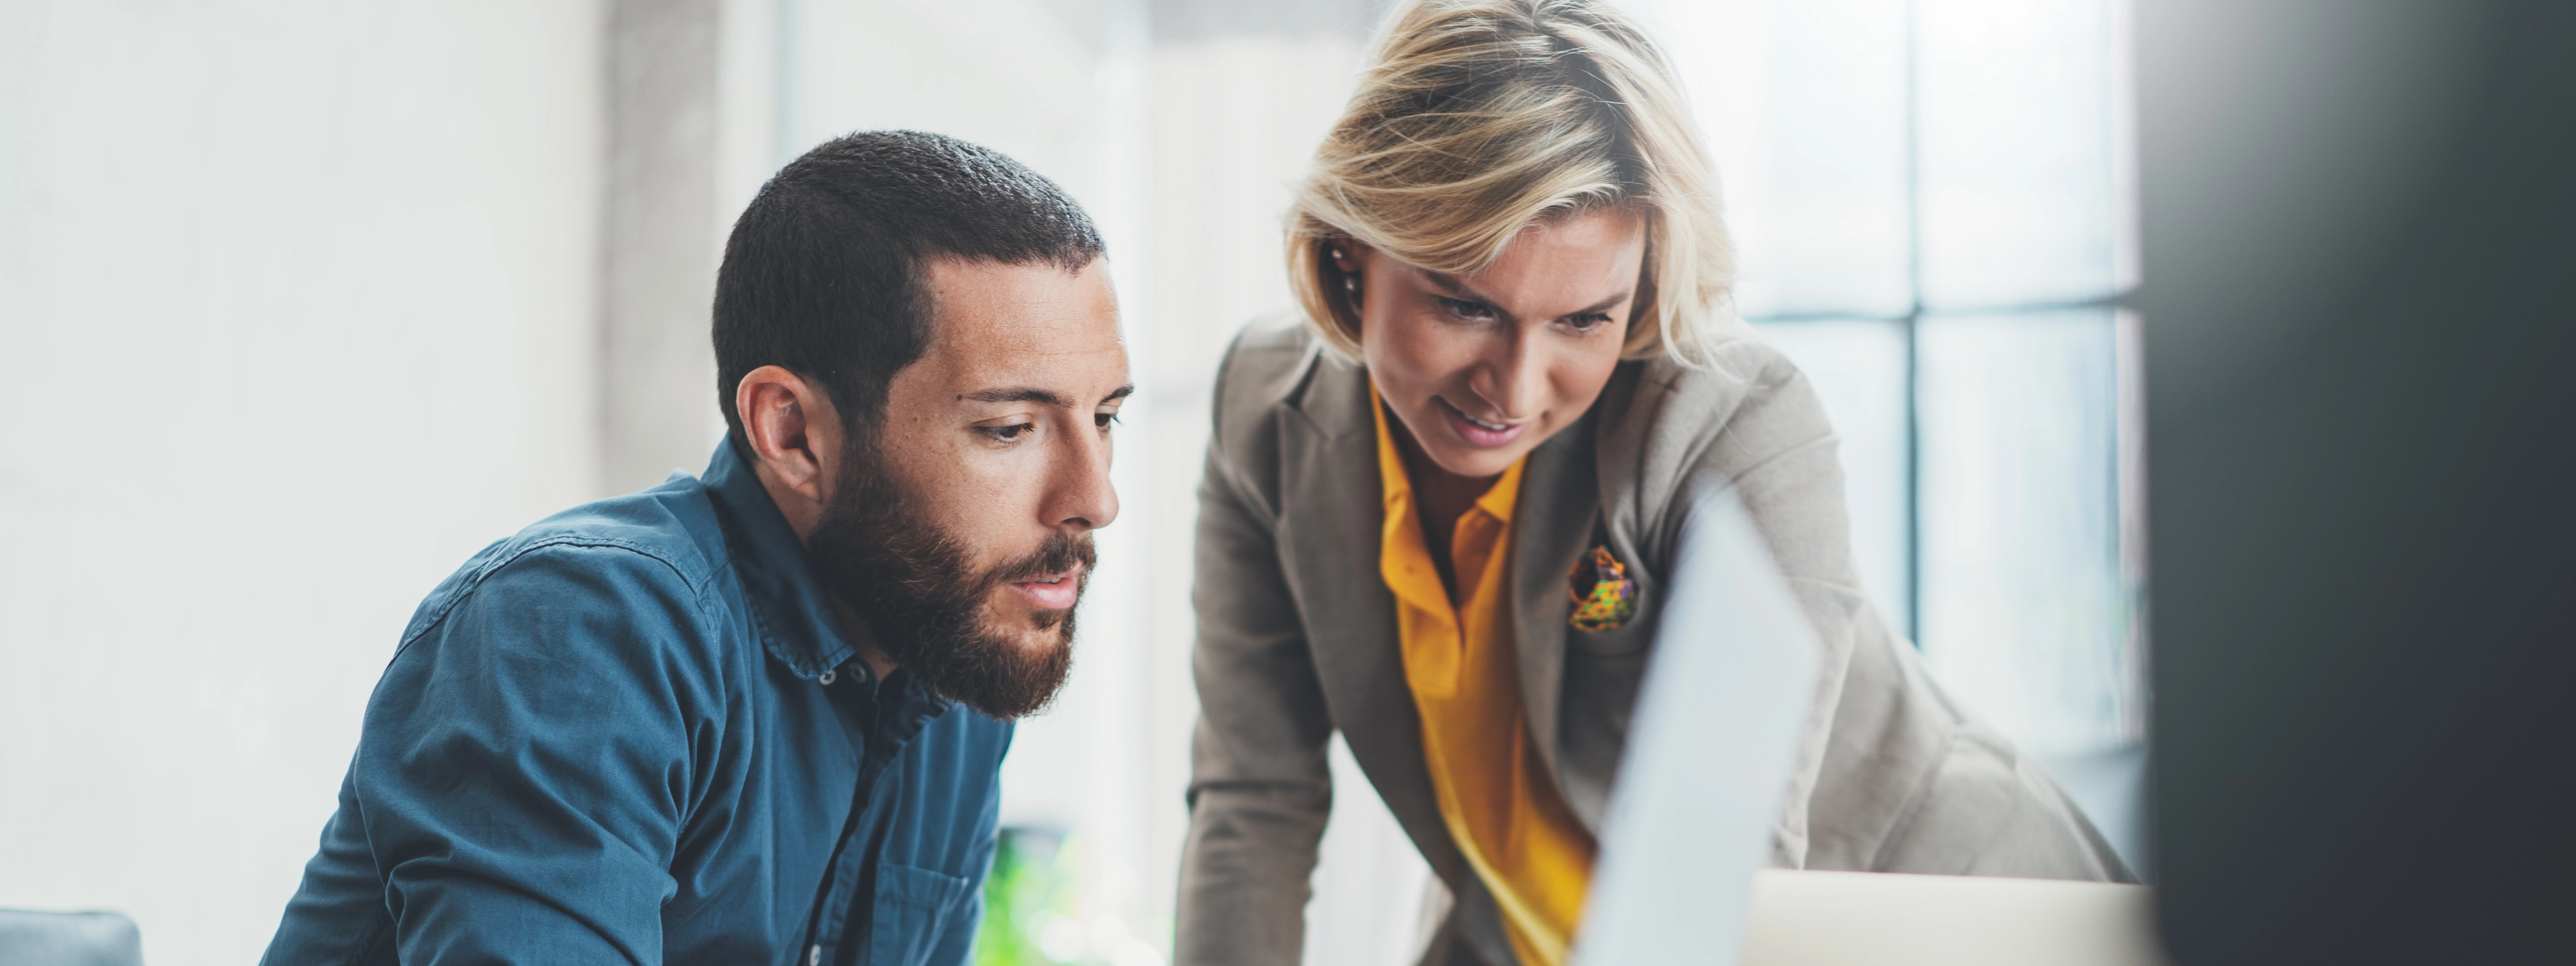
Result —
[[[724,515],[734,572],[752,603],[760,644],[796,677],[822,677],[845,662],[848,672],[868,677],[868,662],[850,659],[858,654],[858,641],[842,629],[832,592],[814,577],[804,541],[778,513],[744,448],[739,433],[726,433],[698,482],[714,492]]]

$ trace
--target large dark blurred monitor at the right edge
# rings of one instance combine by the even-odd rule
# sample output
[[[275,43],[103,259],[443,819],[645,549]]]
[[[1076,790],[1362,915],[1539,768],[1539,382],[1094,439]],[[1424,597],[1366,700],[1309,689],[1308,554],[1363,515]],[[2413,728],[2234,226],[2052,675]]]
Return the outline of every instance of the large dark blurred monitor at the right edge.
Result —
[[[2138,0],[2184,966],[2576,961],[2576,3]]]

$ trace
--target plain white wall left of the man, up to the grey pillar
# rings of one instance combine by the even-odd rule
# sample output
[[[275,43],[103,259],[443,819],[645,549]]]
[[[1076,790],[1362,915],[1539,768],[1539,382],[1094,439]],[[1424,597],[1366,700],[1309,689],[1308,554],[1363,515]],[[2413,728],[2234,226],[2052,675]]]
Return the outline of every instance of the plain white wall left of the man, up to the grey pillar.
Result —
[[[412,605],[595,495],[595,3],[0,3],[0,907],[247,963]]]

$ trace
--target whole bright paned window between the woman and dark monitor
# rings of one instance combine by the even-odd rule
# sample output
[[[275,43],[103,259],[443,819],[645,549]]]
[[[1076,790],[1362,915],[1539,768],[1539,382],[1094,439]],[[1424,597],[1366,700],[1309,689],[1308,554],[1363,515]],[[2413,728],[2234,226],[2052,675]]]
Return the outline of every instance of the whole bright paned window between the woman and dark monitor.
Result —
[[[2128,5],[1641,15],[1726,178],[1739,309],[1842,433],[1865,590],[2138,860]]]

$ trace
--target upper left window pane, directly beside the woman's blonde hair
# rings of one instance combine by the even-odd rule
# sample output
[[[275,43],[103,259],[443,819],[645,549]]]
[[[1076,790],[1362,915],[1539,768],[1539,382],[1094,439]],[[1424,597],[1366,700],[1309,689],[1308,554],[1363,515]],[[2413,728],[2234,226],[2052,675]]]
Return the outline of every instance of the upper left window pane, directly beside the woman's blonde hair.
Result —
[[[1904,314],[1904,0],[1656,0],[1741,258],[1739,307]]]

